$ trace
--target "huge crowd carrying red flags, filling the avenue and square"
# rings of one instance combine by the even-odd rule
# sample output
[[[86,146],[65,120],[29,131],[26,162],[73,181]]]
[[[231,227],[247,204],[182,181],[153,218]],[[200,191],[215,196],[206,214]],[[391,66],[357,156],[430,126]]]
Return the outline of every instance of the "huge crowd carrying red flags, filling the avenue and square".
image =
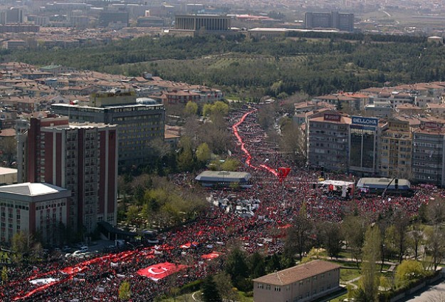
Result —
[[[248,113],[248,114],[246,114]],[[97,258],[80,260],[64,256],[53,257],[33,267],[10,267],[8,281],[1,286],[3,301],[119,301],[118,291],[122,281],[130,283],[132,301],[152,301],[155,296],[169,293],[171,288],[183,286],[191,281],[216,274],[222,269],[224,256],[203,259],[213,251],[227,254],[229,246],[241,242],[248,253],[261,251],[275,254],[283,251],[281,231],[292,224],[305,202],[308,217],[315,220],[340,222],[346,202],[324,194],[323,189],[314,187],[320,171],[291,167],[257,123],[257,112],[250,107],[234,110],[230,125],[236,125],[238,137],[234,135],[238,148],[233,156],[241,162],[248,160],[242,170],[253,175],[253,187],[243,190],[213,189],[212,211],[183,227],[159,234],[159,246],[145,244],[130,251],[115,254],[100,254]],[[244,118],[243,118],[244,117]],[[242,123],[239,121],[242,119]],[[233,130],[234,128],[231,127]],[[241,140],[241,141],[240,141]],[[242,150],[244,147],[245,150]],[[246,153],[246,150],[248,151]],[[279,179],[271,169],[291,167],[286,179]],[[337,175],[347,179],[348,175]],[[175,182],[189,182],[189,176]],[[282,181],[281,181],[282,180]],[[401,208],[409,214],[418,212],[422,203],[429,199],[434,187],[419,190],[414,197],[360,197],[352,200],[360,212],[378,214],[388,209]],[[215,200],[227,200],[225,206],[213,204]],[[246,217],[228,211],[232,202],[253,201]],[[169,262],[187,266],[176,274],[153,281],[138,274],[147,266]],[[51,281],[31,283],[36,279]]]

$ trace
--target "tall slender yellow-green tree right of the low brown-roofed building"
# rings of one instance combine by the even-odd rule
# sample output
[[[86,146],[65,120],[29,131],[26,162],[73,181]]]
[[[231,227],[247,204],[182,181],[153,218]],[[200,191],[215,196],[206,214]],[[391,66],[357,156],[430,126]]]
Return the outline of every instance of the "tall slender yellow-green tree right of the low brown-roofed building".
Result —
[[[379,277],[377,261],[380,258],[380,230],[377,226],[368,227],[363,245],[362,278],[360,278],[360,296],[364,302],[377,301]]]

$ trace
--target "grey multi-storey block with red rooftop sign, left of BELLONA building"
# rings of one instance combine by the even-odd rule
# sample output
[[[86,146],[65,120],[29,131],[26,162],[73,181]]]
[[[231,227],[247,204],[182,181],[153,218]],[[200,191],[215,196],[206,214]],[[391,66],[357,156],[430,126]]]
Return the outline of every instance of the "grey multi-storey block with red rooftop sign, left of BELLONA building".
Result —
[[[351,118],[335,111],[310,118],[306,126],[308,165],[346,171],[349,167]]]

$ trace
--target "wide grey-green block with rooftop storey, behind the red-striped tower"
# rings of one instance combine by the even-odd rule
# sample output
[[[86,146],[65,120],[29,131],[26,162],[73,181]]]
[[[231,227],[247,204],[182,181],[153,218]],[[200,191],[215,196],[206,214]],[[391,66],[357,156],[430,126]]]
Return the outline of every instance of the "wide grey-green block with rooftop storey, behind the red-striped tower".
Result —
[[[164,140],[163,105],[146,105],[136,101],[132,90],[110,90],[90,95],[90,105],[53,104],[54,113],[68,116],[73,122],[117,125],[120,169],[147,164],[152,142]]]

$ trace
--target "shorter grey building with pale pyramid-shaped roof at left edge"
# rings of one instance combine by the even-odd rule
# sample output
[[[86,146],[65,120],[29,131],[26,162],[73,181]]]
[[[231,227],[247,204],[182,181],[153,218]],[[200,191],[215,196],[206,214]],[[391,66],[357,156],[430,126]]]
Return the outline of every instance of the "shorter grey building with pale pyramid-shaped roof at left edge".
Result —
[[[40,234],[44,244],[63,241],[71,192],[45,183],[11,184],[0,187],[0,239],[11,241],[19,231]]]

